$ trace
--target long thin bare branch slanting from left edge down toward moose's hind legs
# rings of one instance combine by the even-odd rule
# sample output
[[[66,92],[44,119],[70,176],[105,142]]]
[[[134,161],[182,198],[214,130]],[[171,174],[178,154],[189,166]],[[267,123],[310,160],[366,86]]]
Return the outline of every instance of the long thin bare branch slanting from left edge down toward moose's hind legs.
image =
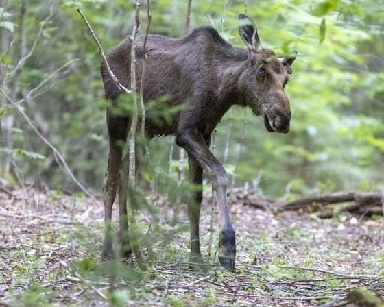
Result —
[[[32,120],[29,119],[29,116],[27,116],[27,114],[25,114],[23,108],[21,108],[20,106],[18,106],[16,104],[16,102],[8,96],[7,93],[5,93],[5,90],[3,90],[3,88],[0,88],[0,91],[1,93],[3,93],[4,97],[12,104],[12,106],[14,106],[19,112],[20,114],[23,116],[23,118],[25,119],[25,121],[27,121],[27,123],[29,124],[30,127],[32,127],[32,130],[34,130],[34,132],[38,135],[38,137],[43,140],[43,142],[53,151],[53,154],[54,156],[60,161],[59,166],[62,167],[64,169],[64,171],[67,171],[69,177],[71,177],[71,179],[73,180],[73,182],[75,182],[75,184],[86,194],[88,195],[88,197],[90,197],[93,201],[95,201],[95,204],[99,204],[99,201],[97,201],[97,199],[91,194],[91,192],[89,192],[78,180],[77,178],[75,177],[75,175],[73,175],[71,169],[69,168],[67,162],[65,161],[65,159],[63,158],[63,156],[61,155],[61,153],[58,151],[58,149],[56,149],[56,147],[54,147],[52,145],[52,143],[49,142],[49,140],[47,140],[47,138],[45,138],[45,136],[43,136],[43,134],[41,134],[37,127],[34,125],[34,123],[32,123]]]

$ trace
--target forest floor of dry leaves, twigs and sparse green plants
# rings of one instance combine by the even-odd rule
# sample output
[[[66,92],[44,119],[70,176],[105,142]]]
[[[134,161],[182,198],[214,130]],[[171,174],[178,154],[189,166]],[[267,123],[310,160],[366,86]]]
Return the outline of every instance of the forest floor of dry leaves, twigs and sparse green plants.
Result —
[[[202,251],[208,258],[211,206],[204,199]],[[237,199],[230,204],[236,272],[219,267],[217,258],[189,270],[186,208],[171,226],[164,221],[171,208],[158,201],[161,226],[152,252],[144,253],[153,260],[143,273],[132,262],[100,261],[101,204],[33,189],[0,193],[0,204],[0,306],[352,306],[344,299],[353,288],[384,294],[382,218],[318,219]],[[149,233],[149,219],[139,220]],[[213,253],[217,223],[215,211]]]

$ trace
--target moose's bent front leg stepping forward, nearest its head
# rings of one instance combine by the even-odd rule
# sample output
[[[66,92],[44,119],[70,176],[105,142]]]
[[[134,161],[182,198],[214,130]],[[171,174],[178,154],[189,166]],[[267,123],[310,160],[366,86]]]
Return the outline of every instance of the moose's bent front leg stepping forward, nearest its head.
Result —
[[[224,268],[229,271],[234,271],[236,256],[235,230],[233,230],[232,223],[230,223],[227,204],[226,188],[228,180],[226,170],[215,156],[213,156],[211,151],[209,151],[209,147],[202,134],[196,130],[184,130],[180,132],[176,136],[176,143],[180,147],[183,147],[187,153],[189,153],[189,156],[213,178],[213,184],[215,185],[220,207],[219,262]],[[191,226],[191,235],[193,234],[192,230],[196,230],[196,228]],[[195,244],[197,245],[197,243]],[[200,245],[198,245],[198,247],[200,251]],[[193,251],[192,248],[196,248],[197,250],[197,247],[192,247],[191,245],[191,251]]]

